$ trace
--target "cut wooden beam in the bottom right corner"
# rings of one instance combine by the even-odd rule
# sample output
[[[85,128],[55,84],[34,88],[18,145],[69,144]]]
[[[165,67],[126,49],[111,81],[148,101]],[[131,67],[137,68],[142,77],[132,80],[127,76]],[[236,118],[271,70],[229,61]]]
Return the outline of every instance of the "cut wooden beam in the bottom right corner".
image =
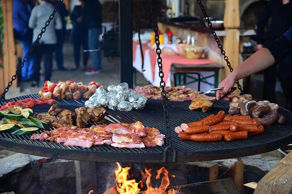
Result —
[[[259,182],[254,194],[292,193],[292,152],[289,152]]]

